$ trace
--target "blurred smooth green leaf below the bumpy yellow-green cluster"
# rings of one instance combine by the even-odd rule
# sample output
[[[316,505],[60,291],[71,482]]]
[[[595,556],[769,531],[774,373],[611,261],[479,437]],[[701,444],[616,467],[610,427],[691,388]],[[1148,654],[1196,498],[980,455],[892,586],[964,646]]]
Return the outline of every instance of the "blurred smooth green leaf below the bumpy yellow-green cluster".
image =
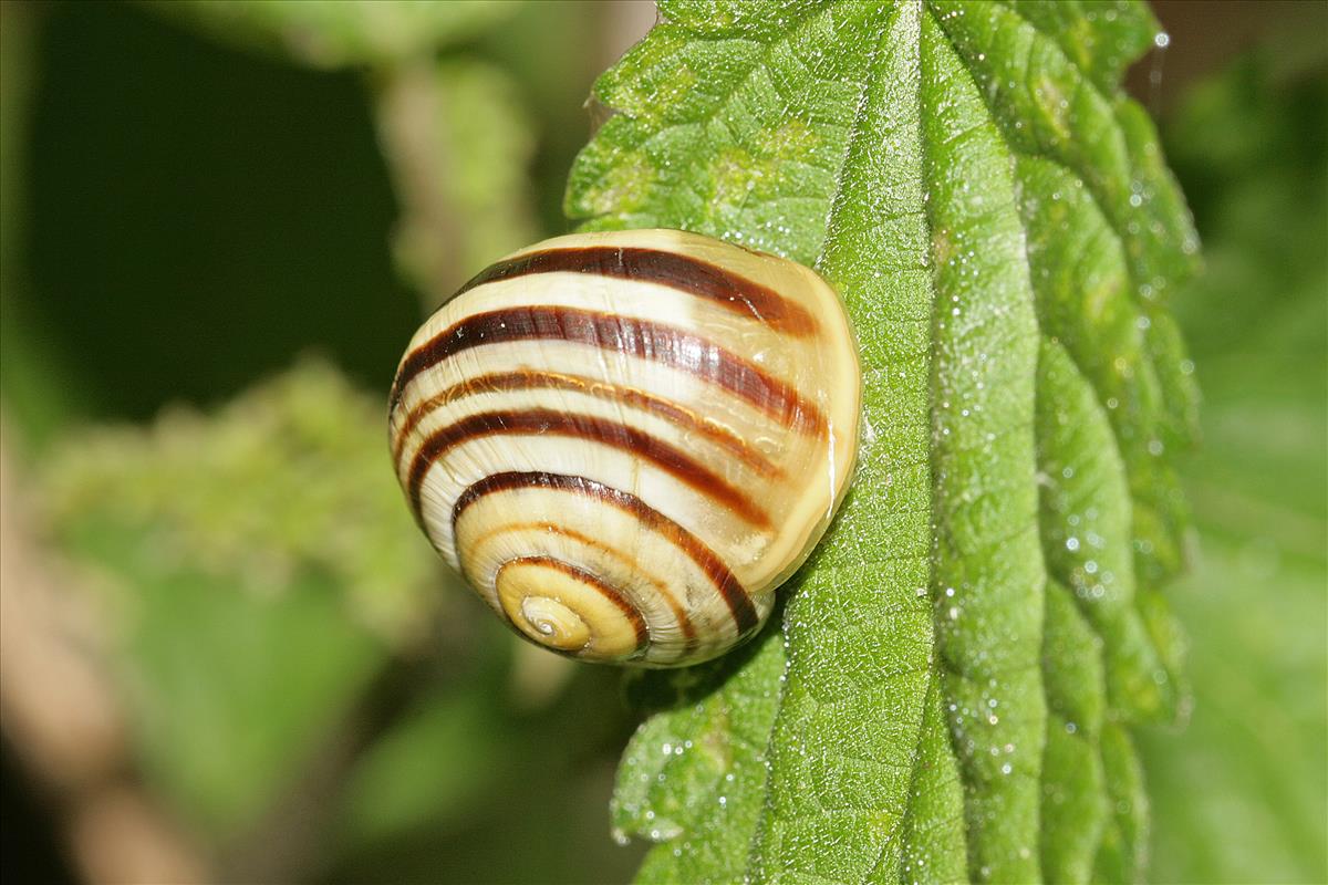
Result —
[[[142,543],[100,535],[120,551]],[[102,564],[117,567],[110,549]],[[137,609],[120,675],[143,767],[185,821],[224,844],[297,787],[384,647],[345,617],[340,588],[317,577],[264,600],[189,569],[120,568]]]

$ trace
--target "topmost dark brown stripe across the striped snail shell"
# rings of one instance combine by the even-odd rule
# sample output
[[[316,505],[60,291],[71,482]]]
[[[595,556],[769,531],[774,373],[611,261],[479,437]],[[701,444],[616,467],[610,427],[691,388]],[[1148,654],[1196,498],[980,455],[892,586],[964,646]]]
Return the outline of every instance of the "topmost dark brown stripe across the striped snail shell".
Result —
[[[457,295],[486,283],[533,273],[584,273],[656,283],[705,299],[795,338],[817,332],[817,320],[806,308],[768,285],[681,252],[629,245],[582,245],[527,252],[485,268],[461,287]]]

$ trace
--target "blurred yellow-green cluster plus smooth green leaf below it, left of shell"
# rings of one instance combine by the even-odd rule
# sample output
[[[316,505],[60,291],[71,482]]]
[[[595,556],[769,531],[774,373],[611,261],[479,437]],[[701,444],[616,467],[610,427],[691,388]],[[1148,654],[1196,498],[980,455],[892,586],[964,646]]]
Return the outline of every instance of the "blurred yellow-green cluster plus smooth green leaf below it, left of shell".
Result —
[[[42,464],[46,519],[120,614],[143,762],[216,839],[436,610],[381,423],[305,362],[215,417],[89,430]]]

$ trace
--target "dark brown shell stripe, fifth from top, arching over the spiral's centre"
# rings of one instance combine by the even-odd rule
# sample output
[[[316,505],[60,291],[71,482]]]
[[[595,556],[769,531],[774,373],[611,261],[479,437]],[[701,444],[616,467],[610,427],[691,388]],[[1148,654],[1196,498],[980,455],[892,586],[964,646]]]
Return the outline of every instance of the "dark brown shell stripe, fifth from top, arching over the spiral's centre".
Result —
[[[497,492],[513,491],[518,488],[544,488],[563,491],[574,495],[594,498],[602,504],[616,507],[633,516],[645,528],[664,536],[671,544],[681,549],[688,559],[700,567],[701,572],[714,585],[714,589],[724,598],[729,612],[733,614],[733,624],[741,637],[758,624],[756,608],[752,598],[738,582],[729,567],[706,547],[696,535],[687,531],[664,513],[659,512],[640,498],[628,492],[606,486],[604,483],[587,479],[584,476],[567,476],[564,474],[548,474],[543,471],[531,472],[503,472],[491,474],[479,482],[466,487],[457,498],[452,508],[452,536],[457,536],[457,520],[470,504]]]

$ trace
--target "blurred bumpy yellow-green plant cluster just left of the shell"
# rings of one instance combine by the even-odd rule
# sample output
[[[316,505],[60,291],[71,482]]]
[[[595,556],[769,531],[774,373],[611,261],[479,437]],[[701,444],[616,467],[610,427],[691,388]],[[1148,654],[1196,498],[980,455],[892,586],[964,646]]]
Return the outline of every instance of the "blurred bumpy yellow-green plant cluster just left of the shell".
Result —
[[[382,407],[305,361],[215,417],[94,430],[45,467],[50,517],[131,529],[145,565],[276,597],[307,573],[389,642],[421,629],[434,563],[384,460]]]

